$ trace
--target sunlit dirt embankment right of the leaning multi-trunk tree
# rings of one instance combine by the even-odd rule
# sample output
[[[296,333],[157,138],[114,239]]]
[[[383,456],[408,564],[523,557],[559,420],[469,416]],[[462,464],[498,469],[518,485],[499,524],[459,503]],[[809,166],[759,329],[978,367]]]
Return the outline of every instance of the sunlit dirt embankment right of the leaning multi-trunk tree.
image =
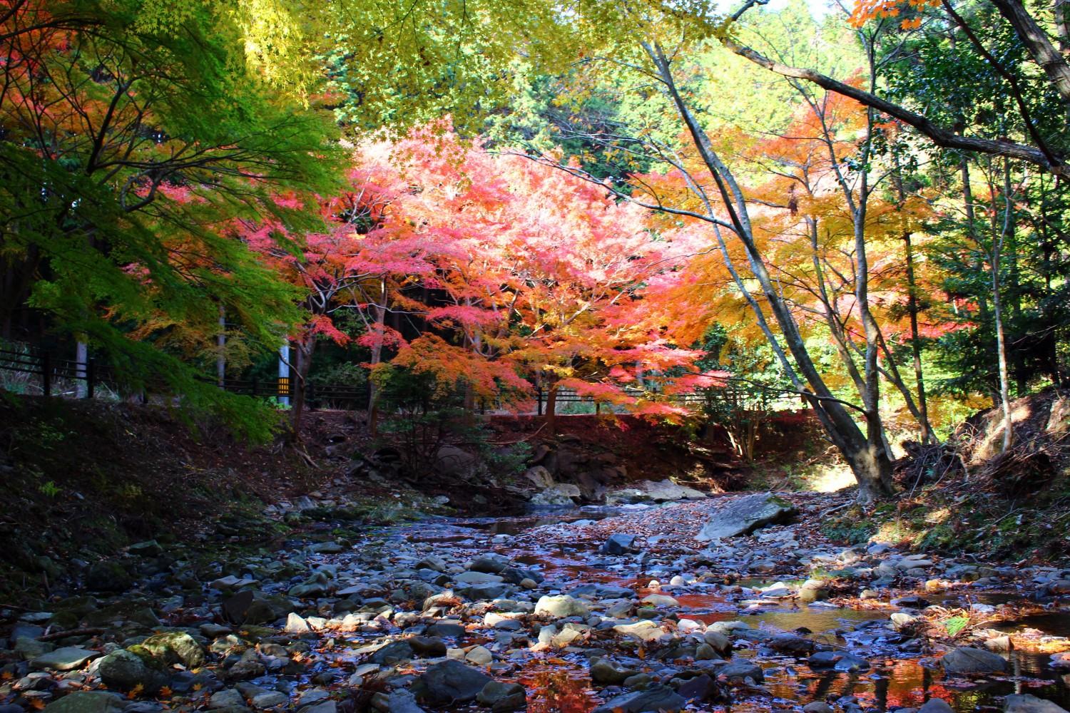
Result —
[[[902,493],[872,512],[844,510],[827,533],[908,542],[978,560],[1070,561],[1070,391],[981,412],[947,443],[912,445],[897,464]]]

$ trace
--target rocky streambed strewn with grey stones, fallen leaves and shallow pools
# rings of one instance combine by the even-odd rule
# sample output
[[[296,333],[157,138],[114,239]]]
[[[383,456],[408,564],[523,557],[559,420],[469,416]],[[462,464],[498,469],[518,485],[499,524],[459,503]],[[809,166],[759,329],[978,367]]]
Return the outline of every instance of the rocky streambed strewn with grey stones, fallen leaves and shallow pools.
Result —
[[[1070,571],[843,547],[843,498],[430,520],[14,611],[0,713],[1057,712]]]

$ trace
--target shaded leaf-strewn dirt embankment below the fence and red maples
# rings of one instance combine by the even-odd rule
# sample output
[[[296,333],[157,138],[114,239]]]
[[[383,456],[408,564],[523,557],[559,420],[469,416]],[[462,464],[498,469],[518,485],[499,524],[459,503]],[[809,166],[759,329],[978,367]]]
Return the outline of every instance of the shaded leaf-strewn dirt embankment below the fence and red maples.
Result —
[[[667,478],[703,491],[737,490],[754,471],[716,428],[566,416],[551,437],[541,424],[495,417],[489,440],[528,444],[523,467],[542,465],[590,494]],[[765,433],[769,450],[798,446],[802,431],[784,422]],[[508,512],[533,492],[519,471],[502,476],[484,467],[463,482],[470,497],[443,506],[457,492],[456,474],[369,469],[367,456],[382,444],[369,438],[360,415],[310,413],[302,436],[302,452],[249,446],[217,424],[190,423],[162,407],[0,393],[0,598],[47,593],[58,578],[80,576],[90,563],[144,540],[211,547],[238,531],[280,537],[289,506],[269,516],[265,508],[307,495],[314,511],[345,505],[354,522],[376,522],[384,508],[389,517]],[[304,513],[303,522],[315,516]]]

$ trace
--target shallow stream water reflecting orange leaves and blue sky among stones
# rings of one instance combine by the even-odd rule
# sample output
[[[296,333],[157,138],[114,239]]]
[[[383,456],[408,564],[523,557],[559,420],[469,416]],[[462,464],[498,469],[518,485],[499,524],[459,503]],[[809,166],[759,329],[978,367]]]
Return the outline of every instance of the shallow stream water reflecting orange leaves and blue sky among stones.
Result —
[[[598,521],[635,511],[629,509],[577,509],[534,513],[523,517],[443,520],[389,528],[387,539],[438,543],[441,546],[471,551],[473,555],[498,552],[511,561],[541,572],[556,589],[601,583],[636,587],[642,595],[644,584],[641,564],[597,564],[592,544],[569,542],[560,537],[538,537],[539,528],[579,521]],[[552,530],[552,528],[551,528]],[[770,580],[771,582],[771,580]],[[768,584],[750,582],[751,586]],[[764,691],[736,691],[731,703],[692,703],[696,711],[798,710],[810,701],[853,699],[862,708],[895,711],[914,708],[931,697],[947,700],[960,713],[1002,711],[1003,697],[1012,693],[1033,693],[1070,709],[1070,675],[1049,666],[1048,653],[1014,651],[1007,654],[1011,672],[983,682],[946,680],[934,658],[904,652],[888,627],[889,610],[852,608],[824,603],[812,605],[761,602],[744,605],[717,591],[702,587],[673,591],[679,602],[678,616],[703,623],[743,619],[751,626],[773,633],[796,632],[816,641],[831,645],[868,660],[872,668],[865,672],[813,671],[806,658],[759,653],[745,648],[733,652],[733,660],[752,657],[764,669]],[[1022,592],[985,591],[980,595],[945,595],[945,607],[969,606],[970,602],[993,604],[1025,603]],[[1070,634],[1070,609],[1023,616],[1005,620],[997,627],[1019,632],[1027,627],[1052,636]],[[491,639],[488,633],[486,640]],[[586,713],[599,700],[587,677],[582,652],[553,652],[524,655],[510,677],[529,689],[530,713]]]

